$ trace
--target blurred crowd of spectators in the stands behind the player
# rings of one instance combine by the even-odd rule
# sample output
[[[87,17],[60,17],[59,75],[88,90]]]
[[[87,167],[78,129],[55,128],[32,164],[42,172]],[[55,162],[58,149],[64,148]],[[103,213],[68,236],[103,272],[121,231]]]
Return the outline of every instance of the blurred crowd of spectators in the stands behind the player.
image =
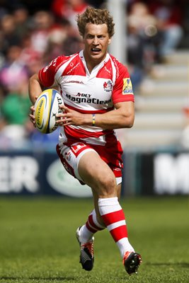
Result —
[[[119,0],[118,0],[119,1]],[[28,120],[28,78],[59,54],[82,49],[76,15],[86,6],[106,8],[106,1],[0,0],[0,144],[53,142]],[[153,64],[164,62],[189,36],[186,0],[125,0],[125,52],[134,91]]]

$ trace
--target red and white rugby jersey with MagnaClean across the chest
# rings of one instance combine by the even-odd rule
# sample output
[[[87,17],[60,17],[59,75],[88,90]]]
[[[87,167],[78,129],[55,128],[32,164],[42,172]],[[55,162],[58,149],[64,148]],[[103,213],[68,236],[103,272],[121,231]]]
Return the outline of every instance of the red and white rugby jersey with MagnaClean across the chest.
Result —
[[[127,68],[110,54],[91,74],[83,50],[71,56],[59,56],[39,71],[39,78],[45,87],[59,85],[64,104],[82,113],[104,113],[113,110],[115,103],[134,101]],[[60,141],[80,139],[88,144],[105,145],[107,134],[115,132],[92,125],[71,125],[62,127]]]

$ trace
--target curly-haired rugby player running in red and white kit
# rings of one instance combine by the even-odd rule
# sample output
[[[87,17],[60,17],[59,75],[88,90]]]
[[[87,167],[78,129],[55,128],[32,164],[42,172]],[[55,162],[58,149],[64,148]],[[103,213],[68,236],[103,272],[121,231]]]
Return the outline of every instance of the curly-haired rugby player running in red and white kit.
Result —
[[[114,34],[113,17],[106,9],[86,8],[77,25],[84,50],[60,55],[30,77],[32,103],[44,88],[59,87],[64,105],[57,115],[60,127],[57,154],[64,168],[93,192],[93,211],[76,230],[84,270],[94,263],[94,234],[108,229],[129,275],[142,262],[131,246],[120,206],[122,146],[115,129],[134,123],[134,94],[125,65],[108,54]],[[30,119],[34,121],[33,107]]]

